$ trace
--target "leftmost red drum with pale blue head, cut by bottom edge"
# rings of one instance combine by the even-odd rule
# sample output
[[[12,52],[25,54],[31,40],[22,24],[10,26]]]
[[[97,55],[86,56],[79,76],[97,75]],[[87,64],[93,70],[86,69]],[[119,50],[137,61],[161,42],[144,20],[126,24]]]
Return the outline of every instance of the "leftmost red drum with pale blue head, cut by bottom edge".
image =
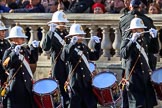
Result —
[[[61,108],[60,93],[55,80],[44,78],[36,81],[33,92],[38,108]]]

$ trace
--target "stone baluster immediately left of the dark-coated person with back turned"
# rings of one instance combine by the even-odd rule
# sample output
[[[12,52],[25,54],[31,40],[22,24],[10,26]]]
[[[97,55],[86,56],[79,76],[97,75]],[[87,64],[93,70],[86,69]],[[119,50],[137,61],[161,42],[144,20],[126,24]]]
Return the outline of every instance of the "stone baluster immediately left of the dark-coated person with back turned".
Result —
[[[121,43],[121,36],[119,33],[119,28],[114,28],[115,29],[115,39],[112,44],[112,47],[115,49],[115,57],[120,57],[120,43]]]

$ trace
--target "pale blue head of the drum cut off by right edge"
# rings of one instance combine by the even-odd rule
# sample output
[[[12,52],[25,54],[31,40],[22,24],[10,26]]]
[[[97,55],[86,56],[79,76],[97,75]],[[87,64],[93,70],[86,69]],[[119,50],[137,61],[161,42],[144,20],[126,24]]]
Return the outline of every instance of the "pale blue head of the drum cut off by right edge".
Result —
[[[157,69],[151,75],[151,80],[157,84],[162,83],[162,69]]]

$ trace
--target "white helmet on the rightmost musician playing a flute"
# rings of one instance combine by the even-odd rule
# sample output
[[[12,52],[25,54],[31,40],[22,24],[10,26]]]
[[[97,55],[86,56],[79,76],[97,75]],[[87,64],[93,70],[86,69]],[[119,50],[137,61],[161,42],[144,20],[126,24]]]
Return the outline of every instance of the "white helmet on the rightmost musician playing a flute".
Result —
[[[137,28],[147,28],[147,27],[144,25],[141,18],[135,17],[132,19],[132,21],[130,23],[130,28],[128,30],[137,29]]]

